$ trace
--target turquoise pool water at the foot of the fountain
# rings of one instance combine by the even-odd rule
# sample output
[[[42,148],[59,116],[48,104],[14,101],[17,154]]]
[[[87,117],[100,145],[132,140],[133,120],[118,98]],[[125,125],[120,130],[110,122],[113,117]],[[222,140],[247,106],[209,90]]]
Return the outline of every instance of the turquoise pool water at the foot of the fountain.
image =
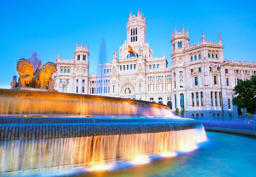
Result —
[[[150,164],[129,167],[116,164],[116,170],[83,172],[71,170],[63,176],[256,176],[256,139],[233,134],[207,132],[208,142],[187,154],[155,158]],[[71,173],[70,173],[71,172]],[[60,174],[58,174],[60,175]],[[54,176],[54,175],[53,175]]]

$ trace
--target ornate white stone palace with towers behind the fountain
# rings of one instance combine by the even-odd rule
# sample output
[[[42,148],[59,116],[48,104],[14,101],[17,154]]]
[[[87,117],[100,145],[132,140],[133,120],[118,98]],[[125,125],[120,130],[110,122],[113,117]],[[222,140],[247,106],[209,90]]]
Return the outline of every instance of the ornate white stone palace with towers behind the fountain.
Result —
[[[188,29],[172,31],[171,58],[168,67],[165,56],[153,58],[153,50],[146,43],[146,18],[142,12],[132,15],[127,22],[127,40],[113,60],[99,66],[102,74],[89,74],[88,44],[76,44],[71,60],[56,57],[58,72],[54,88],[59,92],[103,95],[140,99],[167,104],[173,111],[184,106],[186,114],[195,117],[222,114],[220,71],[211,64],[221,64],[223,48],[221,34],[218,42],[206,40],[189,43]],[[135,56],[128,52],[128,45]],[[232,105],[237,79],[250,79],[256,72],[255,62],[227,60],[221,68],[223,105],[226,116],[237,116],[245,111]],[[102,69],[102,70],[101,70]]]

